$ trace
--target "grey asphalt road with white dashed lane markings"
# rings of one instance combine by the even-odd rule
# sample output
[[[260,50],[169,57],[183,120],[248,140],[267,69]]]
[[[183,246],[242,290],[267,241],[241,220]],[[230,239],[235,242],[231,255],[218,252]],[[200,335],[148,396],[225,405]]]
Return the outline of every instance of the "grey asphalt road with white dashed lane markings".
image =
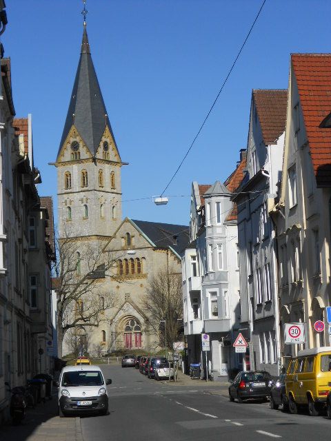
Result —
[[[331,421],[274,411],[267,403],[229,402],[206,387],[157,382],[132,368],[103,367],[108,387],[108,416],[81,418],[84,441],[264,441],[328,439]]]

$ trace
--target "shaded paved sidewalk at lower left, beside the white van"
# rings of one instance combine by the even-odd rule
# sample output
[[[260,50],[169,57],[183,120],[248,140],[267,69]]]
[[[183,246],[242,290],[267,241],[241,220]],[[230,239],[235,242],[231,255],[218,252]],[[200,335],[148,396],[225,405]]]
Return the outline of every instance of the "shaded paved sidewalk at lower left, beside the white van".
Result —
[[[80,418],[59,418],[57,399],[28,409],[26,418],[17,426],[0,426],[1,441],[83,441]]]

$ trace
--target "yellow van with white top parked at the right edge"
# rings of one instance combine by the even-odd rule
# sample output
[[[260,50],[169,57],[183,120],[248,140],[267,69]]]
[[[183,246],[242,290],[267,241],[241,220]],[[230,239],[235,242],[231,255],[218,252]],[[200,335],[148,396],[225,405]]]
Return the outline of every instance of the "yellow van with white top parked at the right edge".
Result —
[[[303,405],[311,416],[319,415],[331,390],[331,347],[299,351],[290,360],[285,386],[290,413]]]

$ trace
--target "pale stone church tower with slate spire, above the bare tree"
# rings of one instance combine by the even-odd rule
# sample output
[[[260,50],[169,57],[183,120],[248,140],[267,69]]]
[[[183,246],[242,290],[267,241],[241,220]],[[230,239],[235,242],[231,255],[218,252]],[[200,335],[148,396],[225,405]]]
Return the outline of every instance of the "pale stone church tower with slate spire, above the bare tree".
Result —
[[[84,17],[85,18],[85,17]],[[97,74],[86,21],[81,55],[57,154],[60,238],[111,236],[121,223],[121,166]]]

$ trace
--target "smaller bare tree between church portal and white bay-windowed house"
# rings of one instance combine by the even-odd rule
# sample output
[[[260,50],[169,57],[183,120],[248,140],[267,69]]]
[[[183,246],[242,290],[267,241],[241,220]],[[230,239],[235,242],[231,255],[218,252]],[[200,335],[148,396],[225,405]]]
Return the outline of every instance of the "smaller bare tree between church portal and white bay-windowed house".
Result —
[[[165,268],[152,276],[143,298],[143,311],[150,318],[150,326],[157,333],[163,330],[166,346],[170,349],[181,334],[182,293],[181,274]]]

